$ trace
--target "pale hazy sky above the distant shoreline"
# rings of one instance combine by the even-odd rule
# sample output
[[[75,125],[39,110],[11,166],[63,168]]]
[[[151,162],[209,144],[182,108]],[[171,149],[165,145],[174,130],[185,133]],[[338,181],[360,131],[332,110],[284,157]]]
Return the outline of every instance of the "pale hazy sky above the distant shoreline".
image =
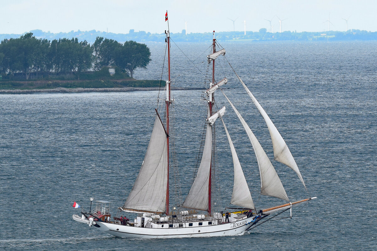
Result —
[[[0,33],[21,34],[97,30],[128,33],[130,29],[163,33],[168,11],[172,33],[215,31],[282,32],[359,29],[377,31],[377,0],[0,0]],[[267,19],[267,20],[265,20]],[[185,23],[187,22],[187,23]]]

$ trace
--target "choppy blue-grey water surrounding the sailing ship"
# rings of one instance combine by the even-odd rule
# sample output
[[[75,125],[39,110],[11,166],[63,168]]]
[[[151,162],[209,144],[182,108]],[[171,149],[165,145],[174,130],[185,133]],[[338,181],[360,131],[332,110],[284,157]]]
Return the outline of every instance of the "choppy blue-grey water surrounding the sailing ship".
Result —
[[[140,79],[159,79],[164,44],[148,44],[153,61]],[[179,44],[205,72],[209,44]],[[0,95],[0,248],[4,250],[375,250],[376,42],[222,44],[227,58],[287,141],[311,196],[293,219],[272,221],[233,237],[119,239],[74,222],[73,201],[124,203],[152,130],[158,91]],[[175,48],[173,47],[172,51]],[[200,58],[198,56],[201,55]],[[172,52],[175,86],[202,87],[202,73]],[[198,59],[196,59],[198,58]],[[196,59],[196,60],[194,60]],[[204,62],[203,64],[201,62]],[[189,69],[189,70],[185,70]],[[221,70],[221,69],[218,69]],[[179,75],[179,76],[178,76]],[[228,77],[228,75],[227,75]],[[273,158],[267,128],[240,84],[228,94]],[[186,194],[192,181],[205,108],[201,91],[175,91],[176,146]],[[227,105],[218,96],[219,105]],[[254,198],[257,163],[227,107],[224,117]],[[223,204],[233,169],[218,129]],[[224,143],[224,145],[221,145]],[[308,194],[296,174],[273,162],[292,201]],[[126,194],[126,195],[125,195]],[[270,203],[270,204],[269,204]],[[287,215],[285,215],[287,216]]]

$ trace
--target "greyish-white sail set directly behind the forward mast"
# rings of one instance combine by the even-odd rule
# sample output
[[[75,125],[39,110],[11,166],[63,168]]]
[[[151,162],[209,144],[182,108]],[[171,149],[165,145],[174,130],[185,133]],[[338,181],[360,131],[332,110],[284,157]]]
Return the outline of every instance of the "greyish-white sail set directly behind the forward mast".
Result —
[[[212,128],[207,123],[207,132],[205,134],[204,150],[202,160],[196,173],[196,177],[189,194],[187,195],[183,206],[198,210],[208,210],[208,186],[211,168],[212,153]]]

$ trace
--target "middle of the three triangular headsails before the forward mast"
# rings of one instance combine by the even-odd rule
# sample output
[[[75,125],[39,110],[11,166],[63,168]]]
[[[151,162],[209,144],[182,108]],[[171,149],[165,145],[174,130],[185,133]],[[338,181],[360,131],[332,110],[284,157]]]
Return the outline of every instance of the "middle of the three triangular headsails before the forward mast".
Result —
[[[241,114],[237,111],[234,105],[230,102],[228,97],[224,94],[230,105],[232,106],[234,112],[237,114],[238,119],[241,121],[245,128],[245,131],[250,139],[251,145],[253,145],[255,156],[258,161],[259,173],[261,174],[261,194],[274,196],[276,198],[284,199],[289,201],[287,193],[280,181],[279,176],[276,173],[270,159],[268,159],[267,154],[263,150],[261,144],[251,131],[250,127],[242,118]]]

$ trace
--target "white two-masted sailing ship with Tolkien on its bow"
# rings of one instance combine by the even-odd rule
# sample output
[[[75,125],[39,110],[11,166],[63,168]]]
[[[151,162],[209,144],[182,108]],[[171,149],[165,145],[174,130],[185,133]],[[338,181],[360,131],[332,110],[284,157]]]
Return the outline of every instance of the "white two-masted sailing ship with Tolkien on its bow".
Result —
[[[118,208],[117,215],[111,217],[109,201],[99,200],[92,209],[93,198],[90,198],[89,211],[83,210],[81,216],[74,214],[72,218],[77,222],[89,224],[89,226],[94,226],[116,237],[174,238],[232,236],[251,230],[287,210],[290,210],[290,217],[292,217],[292,207],[294,205],[316,198],[310,197],[296,202],[291,202],[288,199],[280,178],[261,144],[231,100],[222,92],[221,86],[227,84],[228,79],[223,78],[220,81],[216,81],[215,61],[219,56],[225,57],[225,49],[219,47],[215,39],[214,31],[211,53],[207,56],[207,67],[211,70],[211,79],[209,79],[209,86],[202,96],[202,99],[205,100],[207,104],[207,116],[203,136],[204,146],[200,151],[201,158],[199,158],[200,161],[198,161],[198,168],[195,172],[193,184],[183,203],[181,203],[179,199],[176,200],[177,202],[175,204],[169,202],[169,178],[173,176],[169,172],[175,165],[176,160],[174,140],[172,134],[170,134],[172,124],[170,123],[169,109],[173,98],[172,82],[170,79],[169,29],[166,30],[165,33],[168,57],[168,80],[165,86],[166,96],[164,96],[161,105],[163,109],[160,109],[164,114],[162,116],[157,109],[155,110],[155,122],[146,155],[126,202],[123,206]],[[303,187],[306,189],[296,161],[292,157],[284,139],[238,74],[235,71],[234,73],[267,123],[273,145],[274,160],[293,169],[297,173]],[[225,126],[223,119],[225,106],[215,111],[215,93],[219,91],[224,94],[230,107],[236,113],[254,149],[261,180],[261,195],[273,196],[287,203],[266,209],[256,209],[241,163],[227,127]],[[216,202],[213,200],[213,196],[215,196],[214,190],[216,190],[214,185],[214,179],[216,178],[216,122],[221,122],[224,127],[231,149],[234,185],[230,204],[236,206],[233,210],[230,210],[231,208],[219,209]],[[179,179],[174,178],[174,180]],[[175,190],[177,190],[177,187],[179,188],[177,185],[174,187]],[[179,193],[181,192],[176,192],[175,195],[179,196]],[[134,214],[135,217],[133,220],[129,220],[123,217],[123,214],[127,214],[127,217],[130,217],[128,215]]]

